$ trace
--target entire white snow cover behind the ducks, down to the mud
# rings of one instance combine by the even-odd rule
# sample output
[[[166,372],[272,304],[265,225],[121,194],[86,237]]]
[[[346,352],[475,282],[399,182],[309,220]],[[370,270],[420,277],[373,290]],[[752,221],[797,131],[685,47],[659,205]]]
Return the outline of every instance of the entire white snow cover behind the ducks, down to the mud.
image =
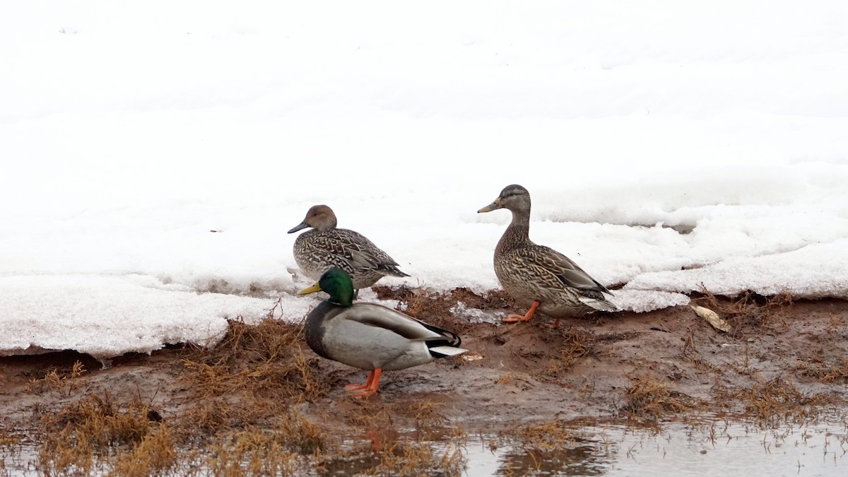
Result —
[[[0,354],[302,320],[286,231],[315,204],[412,276],[383,283],[497,288],[510,214],[476,210],[510,183],[622,309],[848,298],[846,22],[838,0],[15,3]]]

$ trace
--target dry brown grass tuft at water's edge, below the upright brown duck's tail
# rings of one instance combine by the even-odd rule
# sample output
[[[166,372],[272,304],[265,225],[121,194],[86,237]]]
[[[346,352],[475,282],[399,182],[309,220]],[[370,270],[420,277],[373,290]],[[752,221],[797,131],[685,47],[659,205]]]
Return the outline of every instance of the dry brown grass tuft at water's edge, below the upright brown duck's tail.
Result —
[[[656,420],[667,413],[689,411],[694,406],[689,396],[672,390],[670,384],[648,373],[627,373],[630,384],[625,388],[627,403],[622,410],[633,417]]]

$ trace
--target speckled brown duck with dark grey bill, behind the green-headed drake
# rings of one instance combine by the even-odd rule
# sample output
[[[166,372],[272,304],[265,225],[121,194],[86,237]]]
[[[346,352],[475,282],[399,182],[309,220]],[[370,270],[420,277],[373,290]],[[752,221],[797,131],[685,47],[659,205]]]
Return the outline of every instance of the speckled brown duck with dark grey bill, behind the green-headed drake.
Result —
[[[354,289],[370,287],[386,275],[409,277],[398,269],[398,262],[365,239],[361,233],[346,228],[336,228],[336,214],[326,205],[315,205],[304,222],[289,230],[294,233],[306,227],[309,232],[301,233],[294,241],[294,261],[309,278],[317,280],[332,267],[350,274]]]

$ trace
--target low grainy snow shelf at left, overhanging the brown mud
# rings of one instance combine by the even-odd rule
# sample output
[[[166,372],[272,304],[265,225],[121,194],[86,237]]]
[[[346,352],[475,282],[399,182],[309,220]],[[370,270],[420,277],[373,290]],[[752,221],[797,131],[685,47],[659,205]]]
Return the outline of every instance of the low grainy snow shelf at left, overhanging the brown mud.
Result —
[[[139,275],[3,277],[0,287],[0,309],[14,311],[3,323],[0,356],[67,349],[109,358],[163,343],[204,345],[222,337],[226,318],[271,311],[266,300],[203,296]]]

